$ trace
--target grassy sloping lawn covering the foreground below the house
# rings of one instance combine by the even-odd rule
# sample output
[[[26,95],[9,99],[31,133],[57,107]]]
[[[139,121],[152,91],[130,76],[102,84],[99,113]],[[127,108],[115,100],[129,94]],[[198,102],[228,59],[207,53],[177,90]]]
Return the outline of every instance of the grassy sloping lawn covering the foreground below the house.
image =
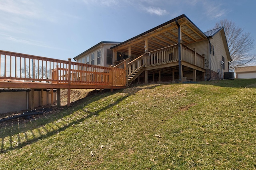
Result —
[[[0,169],[256,169],[256,80],[150,84],[0,126]]]

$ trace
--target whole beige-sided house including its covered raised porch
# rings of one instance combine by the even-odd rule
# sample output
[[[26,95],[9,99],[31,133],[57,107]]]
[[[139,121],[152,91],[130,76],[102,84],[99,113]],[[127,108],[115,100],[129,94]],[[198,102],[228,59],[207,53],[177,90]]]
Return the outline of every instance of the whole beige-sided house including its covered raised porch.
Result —
[[[92,63],[96,58],[90,53],[96,55],[98,50],[104,51],[99,63],[105,66],[112,61],[114,67],[125,68],[127,86],[132,82],[218,80],[224,72],[229,72],[231,58],[224,28],[202,32],[184,14],[115,43],[102,41],[74,59],[98,64]],[[107,50],[109,53],[112,50],[112,60],[105,55]]]

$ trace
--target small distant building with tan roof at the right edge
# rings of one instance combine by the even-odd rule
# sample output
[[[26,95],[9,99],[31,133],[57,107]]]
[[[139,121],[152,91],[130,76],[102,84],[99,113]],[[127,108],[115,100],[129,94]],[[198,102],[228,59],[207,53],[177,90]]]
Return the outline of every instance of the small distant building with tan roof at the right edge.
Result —
[[[256,66],[235,68],[236,78],[256,78]]]

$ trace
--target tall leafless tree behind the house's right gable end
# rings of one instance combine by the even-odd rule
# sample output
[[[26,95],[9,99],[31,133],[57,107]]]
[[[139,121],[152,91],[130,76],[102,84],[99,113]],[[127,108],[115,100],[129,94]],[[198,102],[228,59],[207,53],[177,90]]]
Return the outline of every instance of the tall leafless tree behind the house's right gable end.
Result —
[[[215,28],[222,26],[224,27],[232,59],[230,70],[234,70],[236,67],[248,66],[256,61],[256,55],[250,53],[254,49],[254,39],[250,36],[250,33],[244,33],[244,29],[227,19],[217,22]]]

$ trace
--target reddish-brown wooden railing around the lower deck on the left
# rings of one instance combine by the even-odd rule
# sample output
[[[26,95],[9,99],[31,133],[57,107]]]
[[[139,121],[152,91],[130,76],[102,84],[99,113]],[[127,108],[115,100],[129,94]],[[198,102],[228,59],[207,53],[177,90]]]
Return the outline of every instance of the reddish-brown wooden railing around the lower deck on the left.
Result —
[[[52,84],[126,86],[125,75],[123,68],[0,51],[0,79]]]

